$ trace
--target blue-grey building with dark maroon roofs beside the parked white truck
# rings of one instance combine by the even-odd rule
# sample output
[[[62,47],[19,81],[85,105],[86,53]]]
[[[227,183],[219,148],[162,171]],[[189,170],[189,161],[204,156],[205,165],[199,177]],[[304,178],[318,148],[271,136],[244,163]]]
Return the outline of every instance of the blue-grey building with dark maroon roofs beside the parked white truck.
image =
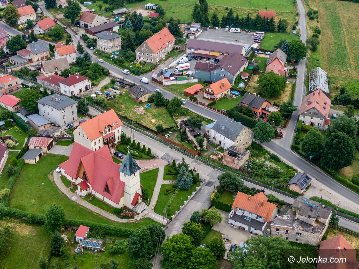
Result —
[[[231,53],[230,55],[219,55],[219,62],[212,64],[208,62],[196,62],[195,64],[195,77],[198,80],[205,81],[218,81],[223,77],[227,77],[231,85],[234,80],[247,66],[248,60],[238,52]]]

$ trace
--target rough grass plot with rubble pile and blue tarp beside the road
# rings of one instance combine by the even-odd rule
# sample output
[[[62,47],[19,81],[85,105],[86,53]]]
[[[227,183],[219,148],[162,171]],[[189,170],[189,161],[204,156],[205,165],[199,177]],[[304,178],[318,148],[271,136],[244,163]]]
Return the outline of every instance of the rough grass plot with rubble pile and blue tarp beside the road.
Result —
[[[125,116],[132,121],[141,123],[151,129],[156,129],[157,124],[162,124],[163,128],[173,127],[174,121],[169,115],[165,107],[157,108],[152,104],[152,108],[145,109],[146,114],[137,114],[132,108],[137,106],[146,105],[146,103],[138,104],[126,91],[122,95],[119,95],[115,100],[109,100],[107,102],[108,108],[113,108],[122,116]]]

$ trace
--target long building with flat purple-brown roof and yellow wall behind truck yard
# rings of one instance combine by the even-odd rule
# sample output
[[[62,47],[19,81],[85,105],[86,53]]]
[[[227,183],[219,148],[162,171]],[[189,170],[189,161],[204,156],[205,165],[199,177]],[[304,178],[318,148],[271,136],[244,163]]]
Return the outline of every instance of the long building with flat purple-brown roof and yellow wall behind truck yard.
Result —
[[[186,44],[187,57],[198,56],[214,61],[223,56],[234,52],[238,52],[242,56],[246,56],[246,50],[243,46],[229,43],[220,43],[213,41],[206,41],[200,39],[188,39]]]

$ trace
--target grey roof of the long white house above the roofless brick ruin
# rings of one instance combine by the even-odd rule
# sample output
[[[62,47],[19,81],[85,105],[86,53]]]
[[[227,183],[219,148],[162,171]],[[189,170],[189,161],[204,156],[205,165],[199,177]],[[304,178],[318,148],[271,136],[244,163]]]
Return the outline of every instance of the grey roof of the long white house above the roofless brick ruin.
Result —
[[[227,118],[225,115],[221,115],[211,129],[234,141],[244,129],[244,125],[240,122],[232,121],[232,119]]]

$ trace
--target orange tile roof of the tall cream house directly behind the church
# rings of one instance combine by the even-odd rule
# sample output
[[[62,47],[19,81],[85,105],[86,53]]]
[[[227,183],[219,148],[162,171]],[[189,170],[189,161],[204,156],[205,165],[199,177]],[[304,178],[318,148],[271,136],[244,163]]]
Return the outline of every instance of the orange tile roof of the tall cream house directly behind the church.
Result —
[[[90,141],[102,136],[102,132],[106,126],[110,125],[113,129],[122,126],[122,122],[116,115],[115,110],[111,109],[98,115],[95,118],[80,123],[79,126],[84,130]],[[113,126],[115,125],[115,126]]]

